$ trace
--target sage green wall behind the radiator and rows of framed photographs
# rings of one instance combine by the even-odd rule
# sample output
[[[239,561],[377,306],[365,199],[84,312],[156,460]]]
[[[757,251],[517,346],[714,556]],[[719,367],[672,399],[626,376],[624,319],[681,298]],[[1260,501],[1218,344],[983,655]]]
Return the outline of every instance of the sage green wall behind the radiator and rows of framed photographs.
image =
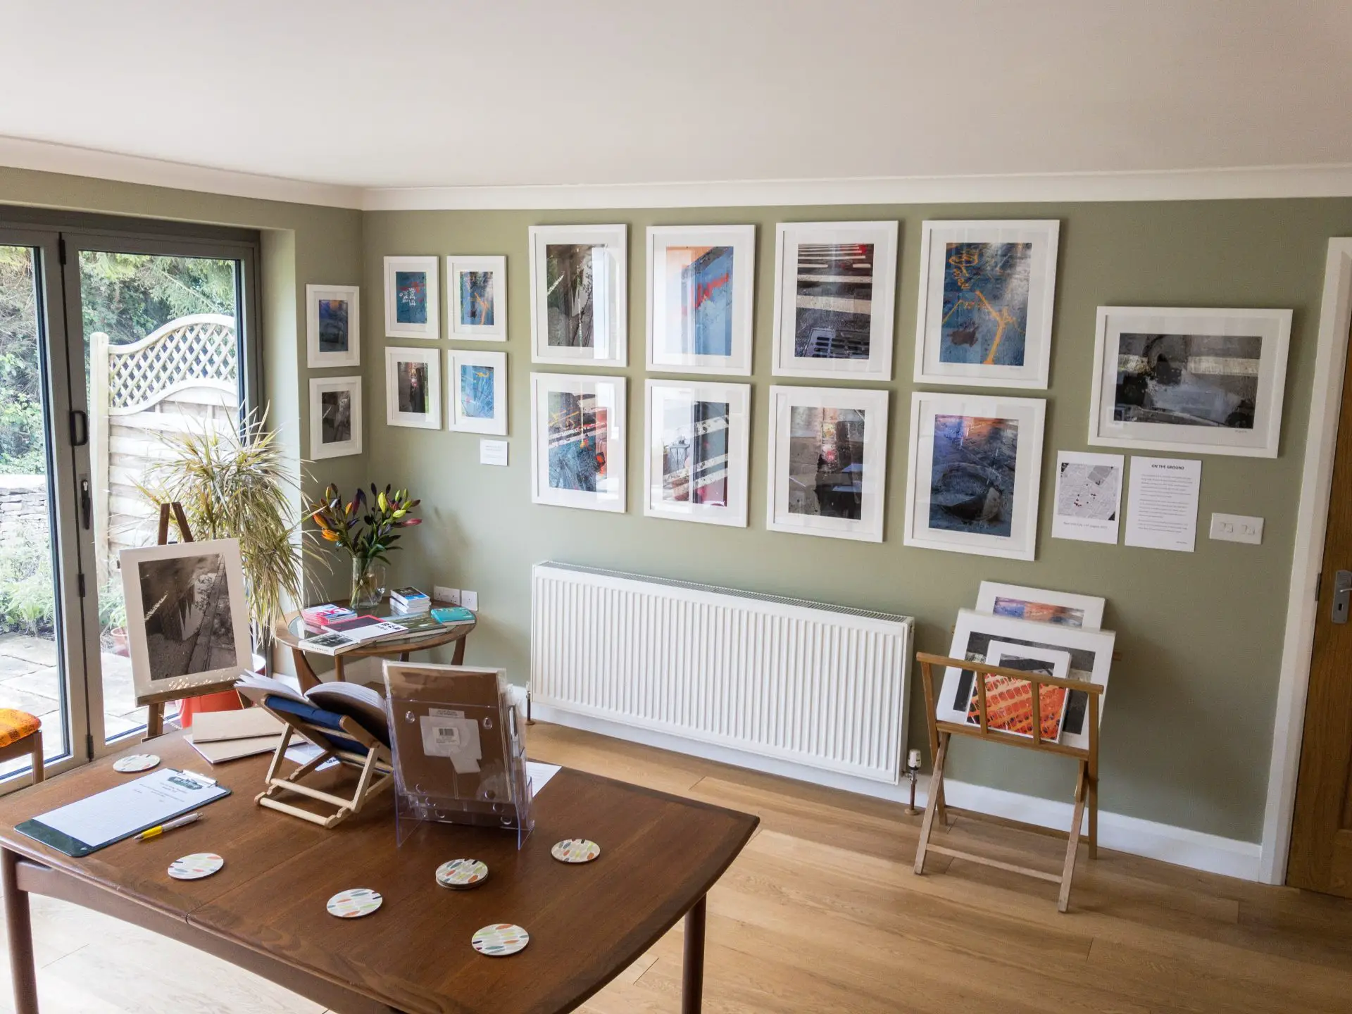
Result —
[[[1052,539],[1052,496],[1045,484],[1036,562],[902,545],[921,222],[964,218],[1061,222],[1044,476],[1052,475],[1059,449],[1088,449],[1095,307],[1295,311],[1280,456],[1272,461],[1203,457],[1195,553]],[[771,376],[775,223],[850,219],[900,220],[896,379],[860,384],[892,392],[882,545],[765,530],[765,411],[768,387],[776,383]],[[622,370],[629,377],[630,433],[629,512],[623,515],[530,502],[526,230],[583,222],[629,224],[629,358],[635,365]],[[645,228],[748,222],[757,226],[749,527],[645,518],[639,492]],[[1117,631],[1119,660],[1103,718],[1102,806],[1244,841],[1261,837],[1324,257],[1329,237],[1352,231],[1352,200],[368,212],[364,231],[369,466],[381,484],[408,485],[422,496],[427,519],[406,544],[393,577],[479,592],[480,629],[469,642],[470,660],[504,665],[515,681],[526,680],[530,566],[542,560],[904,612],[917,617],[917,644],[926,650],[948,649],[955,615],[975,602],[983,579],[1103,595],[1109,603],[1105,626]],[[506,347],[508,468],[479,464],[477,435],[387,427],[384,422],[381,350],[418,342],[384,338],[381,258],[450,253],[507,256],[506,346],[445,339],[437,346]],[[1211,511],[1261,515],[1267,521],[1263,545],[1209,541]],[[913,684],[910,737],[921,744],[918,679]],[[979,744],[955,750],[952,775],[1056,799],[1067,799],[1072,787],[1068,764],[1010,756]]]

